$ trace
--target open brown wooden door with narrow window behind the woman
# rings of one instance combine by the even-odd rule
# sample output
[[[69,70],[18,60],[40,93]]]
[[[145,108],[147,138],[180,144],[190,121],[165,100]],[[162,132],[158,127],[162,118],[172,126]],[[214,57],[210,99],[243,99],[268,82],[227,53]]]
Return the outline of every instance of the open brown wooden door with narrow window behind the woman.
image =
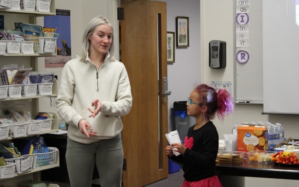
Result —
[[[121,8],[121,61],[133,96],[132,109],[123,117],[123,186],[135,187],[168,177],[168,106],[162,94],[167,77],[166,3],[121,0]]]

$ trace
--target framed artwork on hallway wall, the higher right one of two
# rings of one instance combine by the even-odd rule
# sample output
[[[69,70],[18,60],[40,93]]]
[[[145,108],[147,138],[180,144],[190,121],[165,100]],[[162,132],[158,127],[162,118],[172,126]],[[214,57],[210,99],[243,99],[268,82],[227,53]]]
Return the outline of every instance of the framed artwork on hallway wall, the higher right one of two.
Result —
[[[189,17],[177,17],[177,47],[185,48],[189,46]]]

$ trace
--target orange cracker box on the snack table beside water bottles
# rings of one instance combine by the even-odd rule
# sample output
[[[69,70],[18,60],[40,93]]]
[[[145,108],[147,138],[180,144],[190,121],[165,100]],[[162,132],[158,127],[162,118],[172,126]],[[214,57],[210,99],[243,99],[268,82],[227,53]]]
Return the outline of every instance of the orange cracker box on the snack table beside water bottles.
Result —
[[[265,126],[239,125],[237,128],[237,151],[268,150],[268,129]]]

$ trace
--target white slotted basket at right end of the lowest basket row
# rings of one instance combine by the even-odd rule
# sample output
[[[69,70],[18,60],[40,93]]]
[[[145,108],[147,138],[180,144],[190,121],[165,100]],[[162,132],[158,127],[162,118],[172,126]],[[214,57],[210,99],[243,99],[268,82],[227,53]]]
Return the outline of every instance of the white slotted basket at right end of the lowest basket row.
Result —
[[[33,169],[51,166],[56,164],[56,157],[59,153],[55,147],[48,147],[49,153],[33,154]]]

